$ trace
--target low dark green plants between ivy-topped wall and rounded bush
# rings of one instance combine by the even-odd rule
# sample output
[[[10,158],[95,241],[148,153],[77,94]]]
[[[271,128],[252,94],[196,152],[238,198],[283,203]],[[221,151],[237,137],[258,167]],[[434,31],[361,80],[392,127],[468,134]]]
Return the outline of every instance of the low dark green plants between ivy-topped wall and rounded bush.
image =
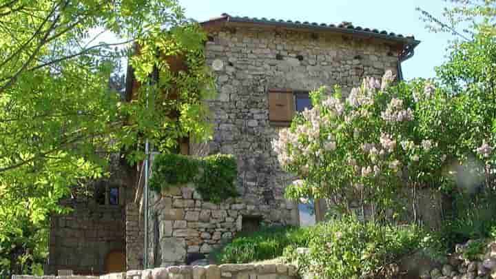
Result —
[[[309,228],[265,228],[252,234],[238,234],[232,242],[211,254],[218,263],[249,263],[282,256],[288,247],[306,247]]]

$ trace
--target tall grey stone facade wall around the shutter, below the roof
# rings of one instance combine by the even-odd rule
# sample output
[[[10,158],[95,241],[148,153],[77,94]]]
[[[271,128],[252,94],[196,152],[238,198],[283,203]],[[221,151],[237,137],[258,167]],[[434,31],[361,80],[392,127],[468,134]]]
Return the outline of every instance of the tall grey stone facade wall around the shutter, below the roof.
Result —
[[[214,70],[218,97],[209,102],[214,140],[206,153],[236,155],[236,185],[244,203],[264,220],[295,224],[298,215],[283,214],[283,194],[293,179],[273,152],[271,141],[280,128],[269,123],[267,91],[339,84],[346,93],[365,76],[396,72],[397,50],[371,39],[279,29],[236,28],[209,35],[207,62],[216,61],[220,68]]]

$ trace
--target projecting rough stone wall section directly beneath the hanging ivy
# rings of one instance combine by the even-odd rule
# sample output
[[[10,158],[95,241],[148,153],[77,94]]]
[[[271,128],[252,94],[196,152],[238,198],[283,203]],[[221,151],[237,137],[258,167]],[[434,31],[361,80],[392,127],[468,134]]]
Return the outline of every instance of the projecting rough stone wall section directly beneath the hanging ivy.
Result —
[[[149,205],[149,262],[154,267],[189,263],[200,254],[207,256],[242,230],[243,218],[260,216],[260,211],[242,198],[231,198],[220,205],[207,203],[191,184],[161,194],[151,192]],[[286,201],[280,212],[283,218],[291,219],[289,216],[298,214],[298,209]]]

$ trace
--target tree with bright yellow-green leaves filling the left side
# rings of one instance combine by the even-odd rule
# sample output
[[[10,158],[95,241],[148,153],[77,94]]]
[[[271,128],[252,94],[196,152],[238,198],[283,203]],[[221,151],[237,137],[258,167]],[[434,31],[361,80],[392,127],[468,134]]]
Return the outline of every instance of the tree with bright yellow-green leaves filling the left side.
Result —
[[[96,43],[104,33],[118,41]],[[67,211],[60,198],[105,175],[111,152],[136,161],[145,136],[162,151],[209,136],[205,39],[175,0],[0,3],[0,255],[19,254],[0,259],[2,272],[33,271],[19,265],[33,251],[23,243],[43,243],[48,215]],[[187,67],[172,71],[158,52]],[[141,83],[130,102],[109,86],[122,59]]]

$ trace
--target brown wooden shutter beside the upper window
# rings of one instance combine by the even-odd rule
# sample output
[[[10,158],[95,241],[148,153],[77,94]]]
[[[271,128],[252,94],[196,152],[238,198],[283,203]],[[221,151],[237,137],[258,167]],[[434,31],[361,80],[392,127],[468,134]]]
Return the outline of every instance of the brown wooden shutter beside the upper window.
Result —
[[[273,125],[287,126],[295,112],[292,90],[269,90],[269,121]]]

